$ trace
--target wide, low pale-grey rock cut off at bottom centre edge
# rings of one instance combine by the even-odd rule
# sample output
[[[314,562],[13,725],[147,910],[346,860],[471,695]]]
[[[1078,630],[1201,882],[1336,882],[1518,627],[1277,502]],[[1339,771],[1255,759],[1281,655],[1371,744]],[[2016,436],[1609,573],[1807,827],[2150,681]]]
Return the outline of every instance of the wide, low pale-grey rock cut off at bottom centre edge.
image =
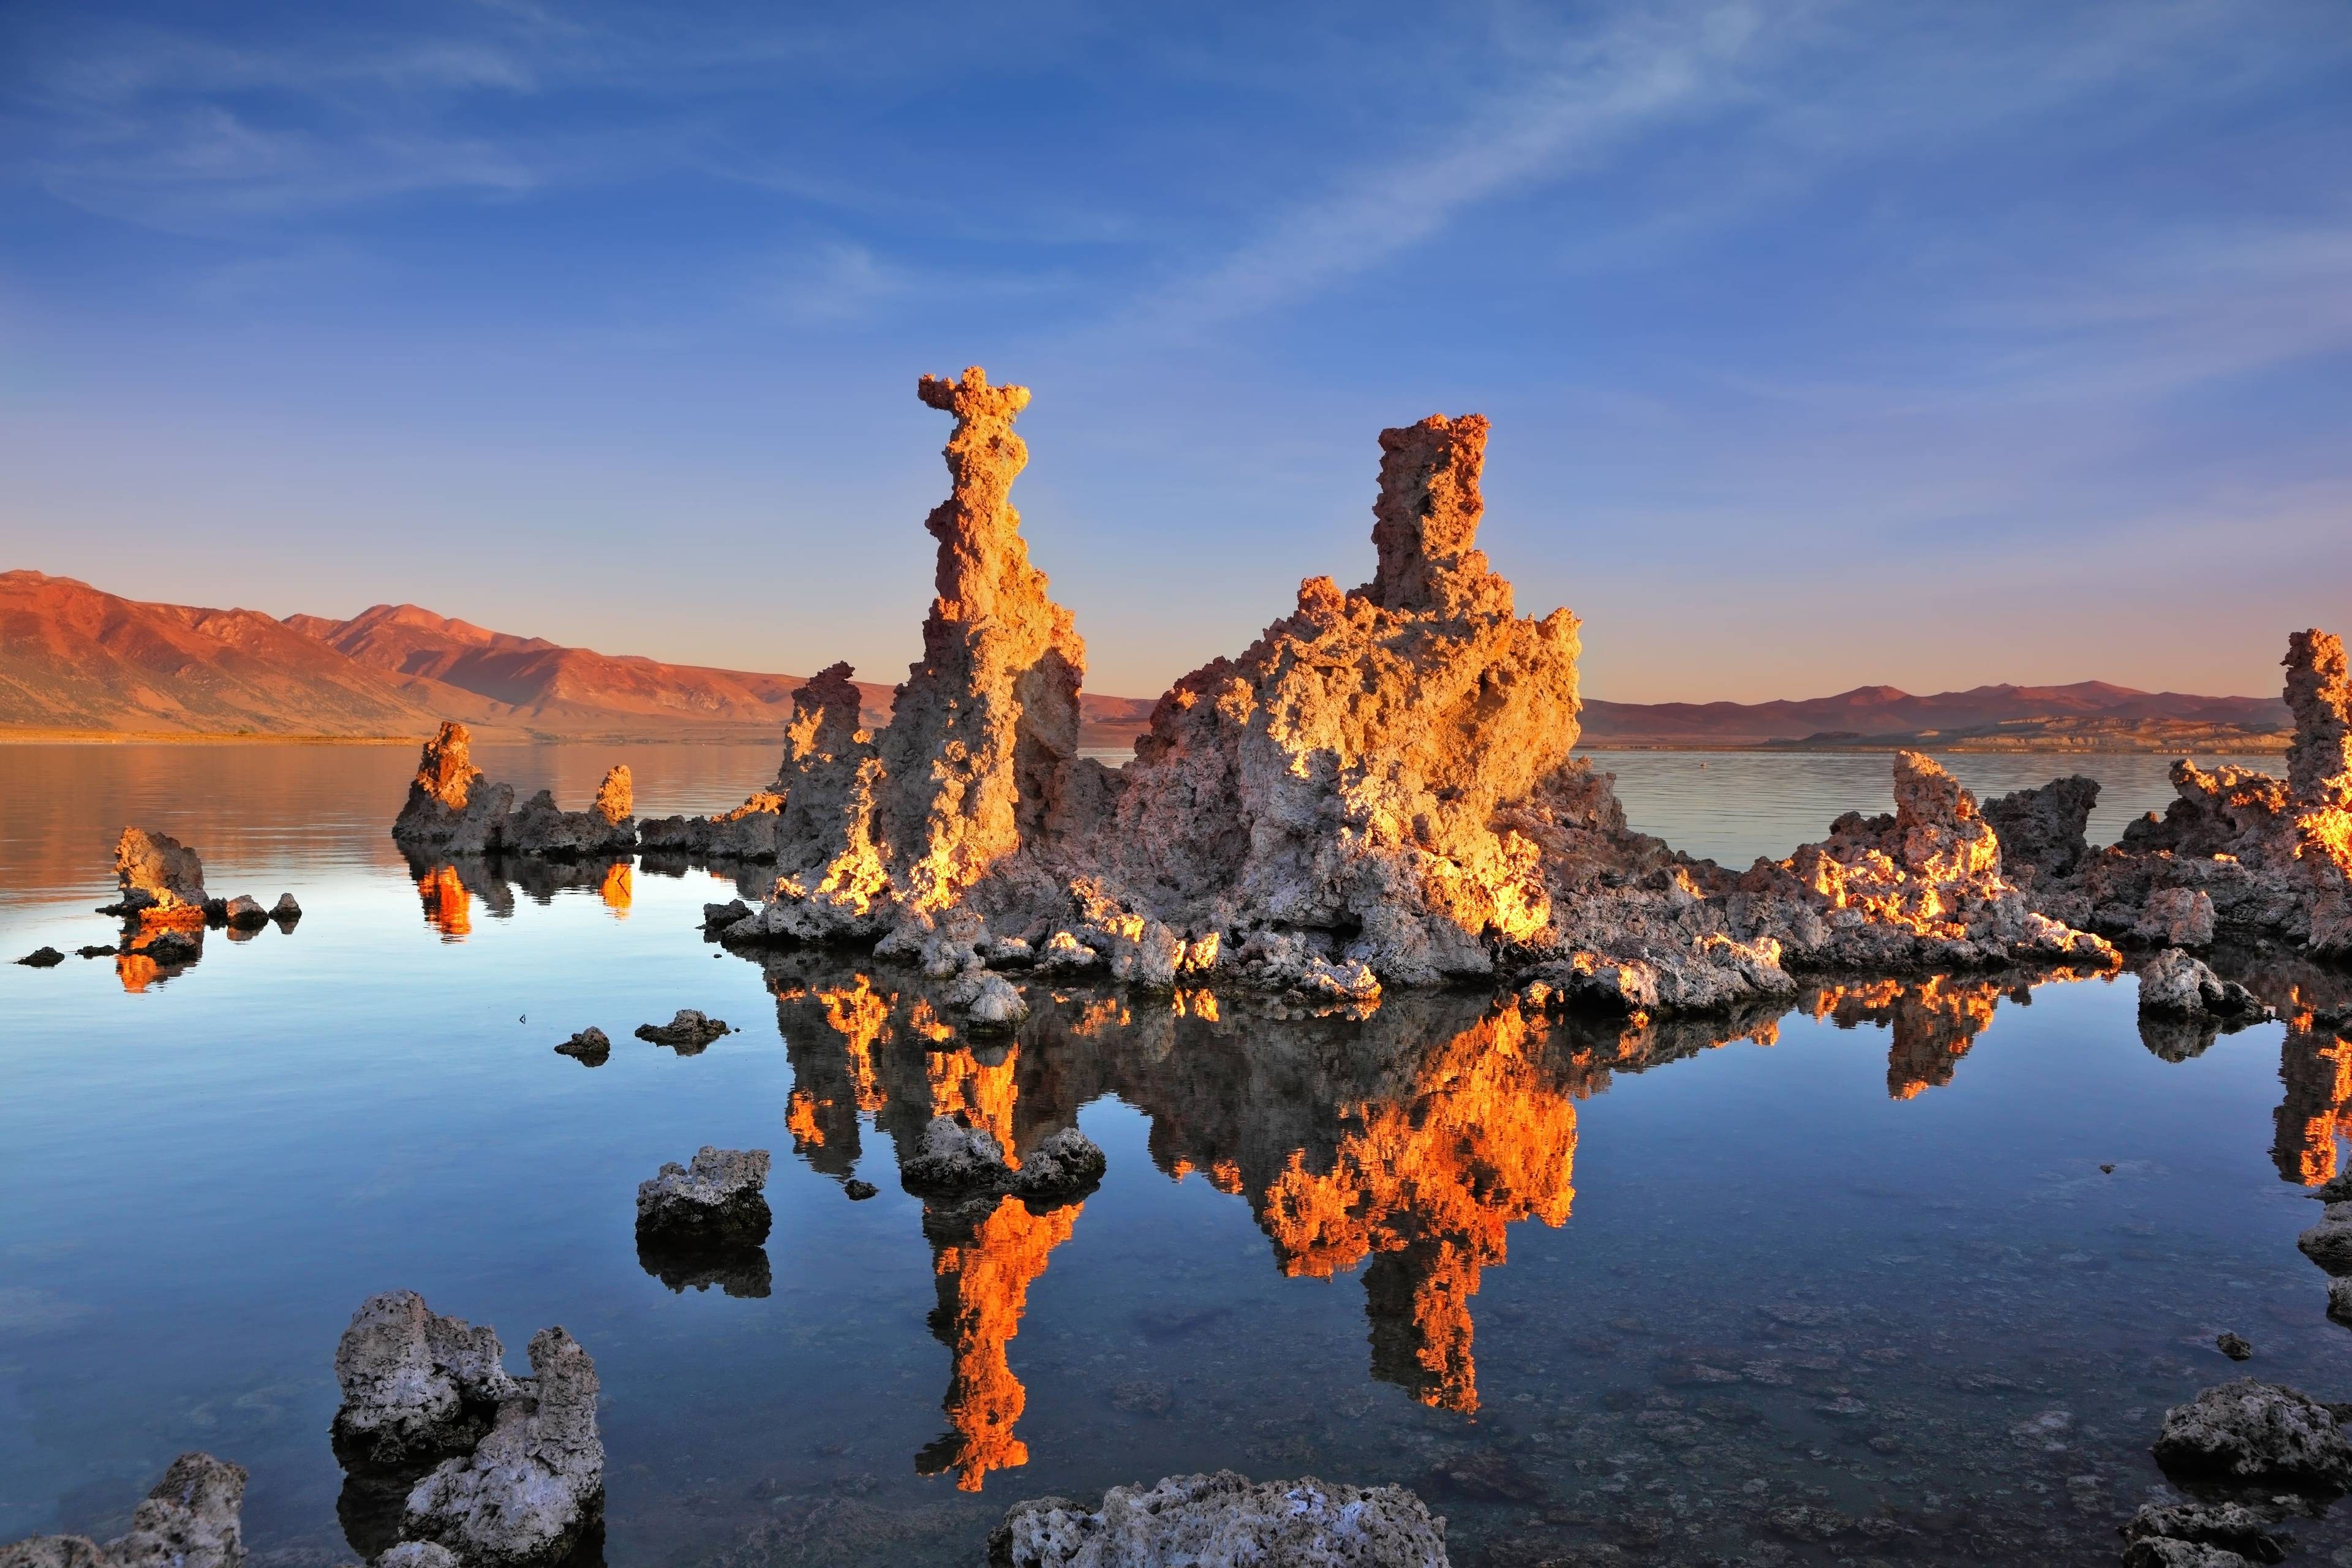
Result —
[[[1098,1509],[1018,1502],[988,1537],[990,1568],[1446,1568],[1446,1526],[1402,1486],[1167,1476],[1115,1486]]]

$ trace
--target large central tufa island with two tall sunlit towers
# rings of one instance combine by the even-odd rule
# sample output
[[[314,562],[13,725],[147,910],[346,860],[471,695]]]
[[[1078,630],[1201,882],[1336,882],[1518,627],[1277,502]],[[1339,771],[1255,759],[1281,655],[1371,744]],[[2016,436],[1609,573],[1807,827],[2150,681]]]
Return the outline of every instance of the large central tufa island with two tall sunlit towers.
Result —
[[[1795,994],[1792,969],[2117,961],[2027,905],[1926,757],[1898,759],[1893,816],[1748,875],[1628,832],[1569,755],[1576,616],[1517,616],[1475,548],[1477,414],[1381,433],[1369,583],[1305,581],[1160,698],[1131,764],[1077,759],[1084,649],[1009,503],[1028,393],[969,369],[920,395],[955,414],[924,658],[880,733],[847,668],[795,693],[783,769],[746,804],[774,816],[779,877],[760,910],[706,910],[720,940],[875,940],[981,1030],[1025,1011],[981,973],[1004,969],[1334,1006],[1508,973],[1649,1011]],[[2067,865],[2086,813],[2070,790],[2004,804],[2020,867]]]

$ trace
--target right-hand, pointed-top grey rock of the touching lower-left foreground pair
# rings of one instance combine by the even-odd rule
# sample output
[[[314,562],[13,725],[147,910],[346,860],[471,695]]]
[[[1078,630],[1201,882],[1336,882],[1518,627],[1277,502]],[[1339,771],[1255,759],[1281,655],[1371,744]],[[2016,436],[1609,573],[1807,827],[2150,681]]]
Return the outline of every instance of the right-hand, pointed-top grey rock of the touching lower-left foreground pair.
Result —
[[[445,1460],[409,1493],[402,1535],[461,1563],[555,1563],[604,1512],[604,1443],[588,1352],[562,1328],[532,1335],[532,1378],[499,1406],[473,1453]]]

